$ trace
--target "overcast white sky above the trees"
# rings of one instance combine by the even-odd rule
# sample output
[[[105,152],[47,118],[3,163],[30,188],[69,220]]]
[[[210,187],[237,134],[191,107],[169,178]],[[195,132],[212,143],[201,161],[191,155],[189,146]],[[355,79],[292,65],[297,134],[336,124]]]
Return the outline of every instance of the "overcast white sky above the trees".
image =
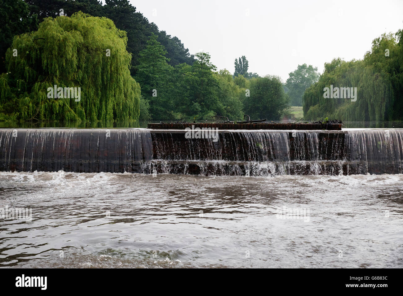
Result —
[[[245,55],[249,72],[285,82],[298,64],[322,73],[325,62],[361,59],[384,32],[403,28],[403,0],[130,0],[191,54],[209,52],[234,72]]]

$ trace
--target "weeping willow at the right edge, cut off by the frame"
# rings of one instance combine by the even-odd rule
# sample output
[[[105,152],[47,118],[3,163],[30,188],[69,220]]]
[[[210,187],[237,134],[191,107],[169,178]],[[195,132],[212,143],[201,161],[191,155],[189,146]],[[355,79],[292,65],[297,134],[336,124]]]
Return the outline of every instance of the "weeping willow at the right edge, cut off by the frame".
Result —
[[[372,41],[363,60],[340,58],[325,64],[320,79],[303,95],[306,120],[337,118],[345,121],[401,120],[403,104],[402,31]],[[324,88],[357,87],[357,100],[325,98]]]

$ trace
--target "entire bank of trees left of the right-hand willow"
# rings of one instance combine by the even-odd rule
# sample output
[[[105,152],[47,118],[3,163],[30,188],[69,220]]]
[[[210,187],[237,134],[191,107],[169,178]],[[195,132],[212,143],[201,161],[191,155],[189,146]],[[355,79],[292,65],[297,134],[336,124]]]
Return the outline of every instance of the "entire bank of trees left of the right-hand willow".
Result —
[[[3,121],[278,120],[290,99],[301,104],[304,77],[316,79],[306,64],[286,84],[260,77],[245,56],[233,74],[218,71],[210,54],[189,54],[127,0],[1,1]],[[54,85],[81,87],[82,100],[49,98]]]

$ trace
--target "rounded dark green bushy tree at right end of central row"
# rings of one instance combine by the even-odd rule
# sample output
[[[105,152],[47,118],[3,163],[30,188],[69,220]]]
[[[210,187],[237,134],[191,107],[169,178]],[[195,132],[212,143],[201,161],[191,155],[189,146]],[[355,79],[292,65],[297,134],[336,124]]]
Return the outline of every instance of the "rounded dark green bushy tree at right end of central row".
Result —
[[[285,113],[288,97],[277,76],[267,75],[250,80],[250,97],[245,99],[245,113],[253,119],[278,120]]]

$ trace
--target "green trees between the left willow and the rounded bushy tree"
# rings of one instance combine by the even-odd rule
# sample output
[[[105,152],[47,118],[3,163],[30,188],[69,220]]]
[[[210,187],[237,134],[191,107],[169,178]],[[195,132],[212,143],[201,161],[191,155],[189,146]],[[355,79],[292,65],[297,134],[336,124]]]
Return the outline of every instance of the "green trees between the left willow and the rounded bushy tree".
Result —
[[[202,120],[215,115],[242,119],[241,96],[245,97],[245,89],[235,84],[228,70],[214,72],[210,55],[203,52],[196,54],[192,66],[183,63],[172,67],[155,37],[141,52],[136,75],[154,120]],[[152,95],[153,89],[156,96]]]

